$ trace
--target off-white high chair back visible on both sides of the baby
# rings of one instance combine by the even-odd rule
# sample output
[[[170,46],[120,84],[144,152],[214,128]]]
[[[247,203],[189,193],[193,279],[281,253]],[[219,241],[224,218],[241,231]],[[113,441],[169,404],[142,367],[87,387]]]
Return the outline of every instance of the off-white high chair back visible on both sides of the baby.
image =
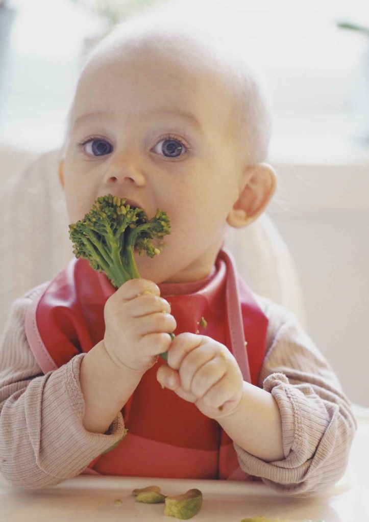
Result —
[[[59,157],[59,149],[36,155],[0,147],[0,333],[11,303],[54,277],[73,256],[57,176]],[[289,308],[305,322],[293,260],[266,214],[246,229],[229,229],[225,245],[253,291]]]

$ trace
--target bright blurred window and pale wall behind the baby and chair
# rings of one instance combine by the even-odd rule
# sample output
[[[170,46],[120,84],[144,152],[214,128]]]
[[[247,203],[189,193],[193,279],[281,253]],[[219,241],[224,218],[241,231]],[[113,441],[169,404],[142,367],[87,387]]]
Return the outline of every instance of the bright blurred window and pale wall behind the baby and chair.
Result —
[[[345,393],[369,406],[366,1],[0,0],[0,194],[6,150],[17,162],[62,145],[86,53],[117,22],[164,4],[237,39],[265,78],[279,176],[268,215],[292,253],[309,335]]]

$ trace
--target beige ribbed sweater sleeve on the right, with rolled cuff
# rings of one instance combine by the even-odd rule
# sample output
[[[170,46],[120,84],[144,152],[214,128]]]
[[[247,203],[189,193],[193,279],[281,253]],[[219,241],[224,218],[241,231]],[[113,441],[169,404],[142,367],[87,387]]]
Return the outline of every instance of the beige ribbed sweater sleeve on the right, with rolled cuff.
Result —
[[[234,444],[240,467],[274,490],[308,496],[343,475],[356,430],[349,399],[294,314],[263,298],[267,354],[259,385],[278,404],[284,459],[263,461]]]

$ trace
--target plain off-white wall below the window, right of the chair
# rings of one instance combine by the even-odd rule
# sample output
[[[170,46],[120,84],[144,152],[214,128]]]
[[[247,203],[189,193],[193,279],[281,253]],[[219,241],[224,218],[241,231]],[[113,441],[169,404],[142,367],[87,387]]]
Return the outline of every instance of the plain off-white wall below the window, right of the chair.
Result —
[[[369,406],[369,167],[275,165],[269,212],[301,278],[307,330],[344,392]]]

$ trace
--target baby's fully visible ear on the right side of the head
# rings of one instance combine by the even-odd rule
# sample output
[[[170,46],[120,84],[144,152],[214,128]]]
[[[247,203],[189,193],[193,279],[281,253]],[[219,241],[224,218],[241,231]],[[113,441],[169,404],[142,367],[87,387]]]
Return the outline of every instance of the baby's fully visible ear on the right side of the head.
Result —
[[[276,189],[276,175],[268,163],[249,166],[243,173],[243,183],[236,203],[227,217],[234,228],[243,228],[254,221],[268,205]]]

